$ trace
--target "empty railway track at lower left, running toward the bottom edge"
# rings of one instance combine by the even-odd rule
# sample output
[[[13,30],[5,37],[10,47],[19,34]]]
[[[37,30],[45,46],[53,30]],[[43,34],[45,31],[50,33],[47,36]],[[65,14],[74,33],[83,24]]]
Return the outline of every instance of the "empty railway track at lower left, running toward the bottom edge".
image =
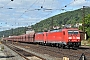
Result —
[[[20,48],[17,48],[14,45],[11,45],[11,44],[4,44],[4,45],[6,45],[7,47],[9,47],[14,52],[18,53],[25,60],[45,60],[44,58],[41,58],[39,56],[36,56],[34,54],[31,54],[30,52],[27,52],[25,50],[22,50]]]

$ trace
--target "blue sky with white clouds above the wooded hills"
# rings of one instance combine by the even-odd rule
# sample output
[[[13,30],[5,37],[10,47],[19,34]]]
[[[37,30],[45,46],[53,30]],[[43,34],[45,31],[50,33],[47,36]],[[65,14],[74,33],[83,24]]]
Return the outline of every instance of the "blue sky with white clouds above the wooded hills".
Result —
[[[90,0],[0,0],[0,31],[31,26],[83,6],[90,6]]]

